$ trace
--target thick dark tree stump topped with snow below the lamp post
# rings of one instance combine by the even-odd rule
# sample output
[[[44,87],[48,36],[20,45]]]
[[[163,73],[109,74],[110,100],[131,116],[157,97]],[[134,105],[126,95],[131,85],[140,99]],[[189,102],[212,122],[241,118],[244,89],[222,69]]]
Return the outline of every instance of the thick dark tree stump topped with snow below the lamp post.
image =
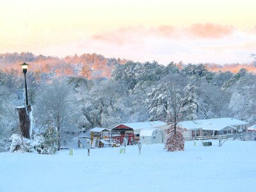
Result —
[[[30,139],[30,129],[31,129],[31,122],[29,118],[29,113],[31,113],[31,106],[26,107],[17,107],[16,108],[19,113],[19,122],[20,122],[20,131],[21,135],[24,138]]]

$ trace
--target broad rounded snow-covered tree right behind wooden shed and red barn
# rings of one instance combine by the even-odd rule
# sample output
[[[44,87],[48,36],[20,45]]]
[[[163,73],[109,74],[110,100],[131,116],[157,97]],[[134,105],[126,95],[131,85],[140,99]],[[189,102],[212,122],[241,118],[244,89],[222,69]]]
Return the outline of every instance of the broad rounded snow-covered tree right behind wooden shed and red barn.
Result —
[[[111,127],[127,122],[129,108],[122,95],[128,94],[128,90],[117,82],[102,81],[94,86],[79,102],[86,127]]]

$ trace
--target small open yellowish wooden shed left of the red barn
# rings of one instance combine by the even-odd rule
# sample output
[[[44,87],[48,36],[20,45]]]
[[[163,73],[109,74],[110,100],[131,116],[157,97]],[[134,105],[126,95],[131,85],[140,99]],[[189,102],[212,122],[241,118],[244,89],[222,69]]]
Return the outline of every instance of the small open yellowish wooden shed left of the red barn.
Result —
[[[111,145],[109,129],[94,127],[90,132],[92,148],[109,147]]]

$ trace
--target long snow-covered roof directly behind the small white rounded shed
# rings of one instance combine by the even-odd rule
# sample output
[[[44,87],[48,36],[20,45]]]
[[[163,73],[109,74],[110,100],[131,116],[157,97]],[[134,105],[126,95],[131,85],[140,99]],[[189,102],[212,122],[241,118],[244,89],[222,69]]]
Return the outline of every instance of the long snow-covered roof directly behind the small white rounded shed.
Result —
[[[133,130],[140,130],[140,129],[152,129],[152,128],[161,127],[167,124],[165,122],[156,121],[156,122],[138,122],[138,123],[129,123],[129,124],[120,124],[120,125],[125,125],[127,127],[132,128]]]

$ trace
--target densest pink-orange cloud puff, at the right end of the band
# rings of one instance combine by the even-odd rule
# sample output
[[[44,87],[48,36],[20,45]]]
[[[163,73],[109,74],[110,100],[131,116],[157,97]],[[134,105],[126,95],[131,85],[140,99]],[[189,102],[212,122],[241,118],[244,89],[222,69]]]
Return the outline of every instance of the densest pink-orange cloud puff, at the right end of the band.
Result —
[[[232,35],[234,28],[232,26],[223,26],[220,24],[193,24],[186,31],[198,38],[222,38]]]

